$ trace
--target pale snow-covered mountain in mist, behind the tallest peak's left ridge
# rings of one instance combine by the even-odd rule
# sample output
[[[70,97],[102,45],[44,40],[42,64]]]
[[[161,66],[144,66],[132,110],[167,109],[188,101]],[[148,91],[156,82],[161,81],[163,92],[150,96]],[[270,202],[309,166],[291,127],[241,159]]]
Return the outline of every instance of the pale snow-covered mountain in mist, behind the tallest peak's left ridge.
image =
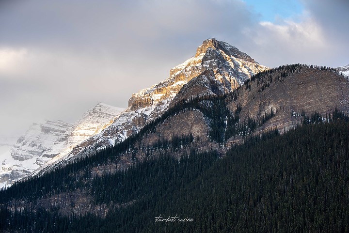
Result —
[[[69,154],[76,145],[108,127],[122,110],[98,103],[74,124],[63,121],[32,124],[11,151],[1,155],[0,187]]]

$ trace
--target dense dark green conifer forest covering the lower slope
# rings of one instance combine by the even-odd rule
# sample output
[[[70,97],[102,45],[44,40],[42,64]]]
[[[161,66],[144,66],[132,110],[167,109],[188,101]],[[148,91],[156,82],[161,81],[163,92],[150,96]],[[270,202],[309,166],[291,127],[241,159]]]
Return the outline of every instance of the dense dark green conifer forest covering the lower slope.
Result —
[[[347,233],[349,123],[343,114],[333,116],[329,123],[304,124],[283,135],[275,130],[254,136],[232,146],[223,158],[215,151],[191,150],[179,160],[165,154],[149,158],[127,171],[95,178],[89,187],[50,183],[57,192],[90,190],[93,202],[115,206],[105,217],[6,208],[24,197],[19,184],[1,192],[0,230]],[[25,196],[35,202],[48,184],[31,186]],[[170,216],[189,220],[155,221]]]

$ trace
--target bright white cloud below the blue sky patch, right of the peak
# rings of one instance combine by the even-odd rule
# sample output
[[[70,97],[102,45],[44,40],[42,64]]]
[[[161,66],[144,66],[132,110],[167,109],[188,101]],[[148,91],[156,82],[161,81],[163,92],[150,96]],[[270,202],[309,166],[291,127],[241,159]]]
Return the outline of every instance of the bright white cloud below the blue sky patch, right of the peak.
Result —
[[[308,11],[294,18],[279,18],[274,23],[259,22],[247,28],[244,36],[250,43],[246,52],[271,67],[290,63],[336,67],[344,57],[338,56],[337,50],[346,47],[343,43],[335,43],[337,38],[329,35],[328,29]]]

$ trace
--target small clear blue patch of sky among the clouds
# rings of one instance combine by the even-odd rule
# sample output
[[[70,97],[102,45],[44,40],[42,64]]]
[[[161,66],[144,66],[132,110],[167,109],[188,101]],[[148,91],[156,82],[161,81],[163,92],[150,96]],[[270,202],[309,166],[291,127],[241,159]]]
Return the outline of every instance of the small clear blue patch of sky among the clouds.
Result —
[[[299,0],[243,0],[252,11],[260,14],[260,21],[275,22],[279,18],[300,15],[303,5]]]

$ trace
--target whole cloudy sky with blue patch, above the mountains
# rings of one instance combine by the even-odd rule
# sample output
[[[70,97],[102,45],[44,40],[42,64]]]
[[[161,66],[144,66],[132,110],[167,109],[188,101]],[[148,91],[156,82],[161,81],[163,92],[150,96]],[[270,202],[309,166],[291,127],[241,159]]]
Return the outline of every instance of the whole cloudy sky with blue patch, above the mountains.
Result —
[[[349,64],[348,0],[1,0],[0,136],[77,121],[169,77],[207,38],[260,64]]]

